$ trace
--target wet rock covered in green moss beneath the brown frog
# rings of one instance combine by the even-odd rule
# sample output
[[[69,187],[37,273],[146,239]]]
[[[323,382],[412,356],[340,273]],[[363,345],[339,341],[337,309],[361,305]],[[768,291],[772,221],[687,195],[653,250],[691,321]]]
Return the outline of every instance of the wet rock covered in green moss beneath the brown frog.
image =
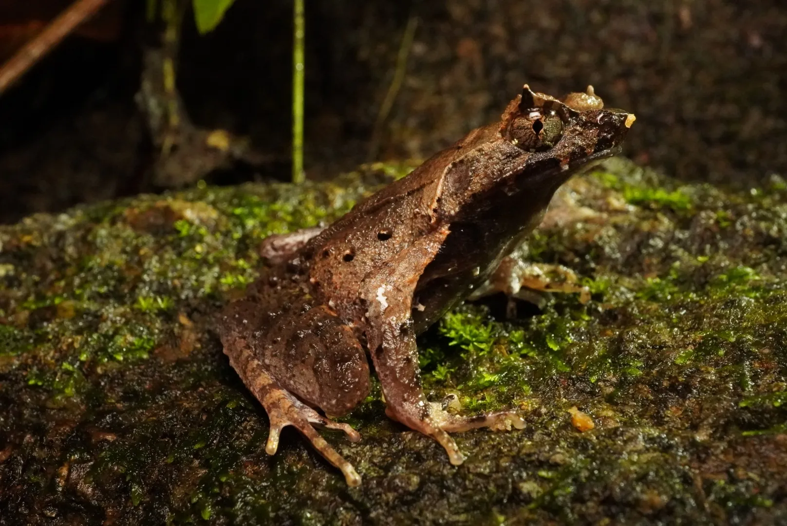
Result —
[[[419,339],[431,399],[525,415],[523,431],[455,435],[464,465],[388,420],[379,389],[345,418],[360,443],[324,433],[360,487],[291,430],[268,457],[215,315],[265,235],[398,175],[203,186],[0,228],[0,524],[787,521],[778,178],[734,193],[612,160],[572,180],[528,252],[590,301],[553,294],[513,320],[467,304]]]

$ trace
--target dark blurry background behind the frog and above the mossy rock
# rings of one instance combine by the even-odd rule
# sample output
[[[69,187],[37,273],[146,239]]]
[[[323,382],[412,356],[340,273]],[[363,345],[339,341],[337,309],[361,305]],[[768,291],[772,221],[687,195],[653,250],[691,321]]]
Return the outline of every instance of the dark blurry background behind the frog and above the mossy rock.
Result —
[[[144,177],[153,152],[133,101],[143,3],[119,2],[112,38],[69,37],[0,96],[0,222],[159,190]],[[525,82],[555,95],[590,83],[607,106],[636,113],[625,154],[638,163],[743,187],[787,169],[787,7],[778,0],[306,3],[310,177],[371,160],[410,17],[419,25],[407,75],[374,159],[427,157],[497,119]],[[22,17],[2,7],[0,25]],[[185,18],[179,89],[190,117],[250,135],[273,159],[213,183],[290,174],[291,9],[237,0],[205,37]]]

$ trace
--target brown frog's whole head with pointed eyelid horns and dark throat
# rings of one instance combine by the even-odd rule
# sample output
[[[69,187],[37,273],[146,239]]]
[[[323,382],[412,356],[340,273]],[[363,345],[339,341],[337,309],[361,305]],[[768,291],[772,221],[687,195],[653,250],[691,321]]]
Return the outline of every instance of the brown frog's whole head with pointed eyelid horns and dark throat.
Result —
[[[633,113],[604,109],[593,87],[559,100],[526,84],[488,129],[493,139],[463,143],[470,151],[446,171],[442,215],[503,230],[530,224],[569,177],[617,154],[633,122]]]

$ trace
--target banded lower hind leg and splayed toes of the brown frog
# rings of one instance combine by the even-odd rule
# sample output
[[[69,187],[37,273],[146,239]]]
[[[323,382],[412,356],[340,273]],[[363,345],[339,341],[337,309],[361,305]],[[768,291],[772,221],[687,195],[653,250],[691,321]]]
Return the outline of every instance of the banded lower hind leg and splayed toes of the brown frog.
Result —
[[[271,430],[268,433],[268,443],[265,446],[265,451],[269,455],[275,454],[279,448],[279,434],[283,428],[291,425],[301,432],[327,461],[342,470],[349,486],[358,486],[360,484],[360,475],[353,468],[353,465],[346,461],[342,455],[338,454],[316,432],[312,424],[343,431],[353,442],[360,440],[358,432],[348,424],[339,424],[338,422],[328,420],[314,409],[298,401],[297,398],[282,387],[279,387],[279,384],[265,371],[260,361],[253,357],[244,339],[237,338],[232,342],[224,342],[224,348],[234,350],[234,352],[227,353],[233,369],[242,372],[240,376],[243,382],[246,383],[246,387],[249,387],[249,391],[254,394],[265,408],[266,413],[268,413],[268,418],[271,421]]]

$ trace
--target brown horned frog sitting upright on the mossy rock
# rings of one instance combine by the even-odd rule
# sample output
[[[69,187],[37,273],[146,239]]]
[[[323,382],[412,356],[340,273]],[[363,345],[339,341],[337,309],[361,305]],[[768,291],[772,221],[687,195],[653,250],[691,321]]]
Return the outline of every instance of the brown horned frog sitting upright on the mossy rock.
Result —
[[[334,419],[367,398],[371,367],[386,415],[436,440],[452,465],[465,456],[449,433],[524,428],[515,410],[463,416],[430,402],[416,336],[489,282],[565,181],[619,153],[634,118],[604,109],[592,87],[561,100],[525,84],[500,120],[334,223],[265,239],[259,277],[225,307],[218,332],[268,413],[266,452],[293,426],[358,486],[356,469],[317,429],[360,440]]]

